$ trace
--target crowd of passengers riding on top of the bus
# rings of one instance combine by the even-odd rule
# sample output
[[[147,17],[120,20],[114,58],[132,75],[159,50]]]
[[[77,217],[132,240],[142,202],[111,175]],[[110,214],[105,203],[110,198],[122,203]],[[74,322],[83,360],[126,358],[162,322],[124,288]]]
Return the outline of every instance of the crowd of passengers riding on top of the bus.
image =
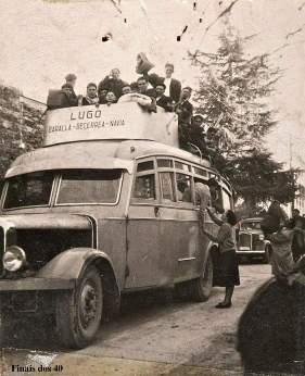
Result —
[[[151,73],[151,64],[144,53],[137,57],[136,72],[140,75],[137,82],[127,83],[120,78],[118,68],[113,68],[98,85],[89,83],[86,95],[76,95],[74,91],[76,75],[68,74],[65,84],[61,88],[61,101],[53,105],[52,99],[48,98],[49,109],[67,108],[77,105],[112,105],[117,102],[130,100],[137,97],[140,105],[149,112],[156,112],[157,106],[166,112],[176,113],[178,116],[179,146],[181,149],[198,152],[207,158],[217,156],[219,137],[217,129],[209,127],[205,131],[204,117],[194,114],[190,102],[192,88],[183,87],[173,77],[174,64],[165,64],[165,74],[160,76]]]

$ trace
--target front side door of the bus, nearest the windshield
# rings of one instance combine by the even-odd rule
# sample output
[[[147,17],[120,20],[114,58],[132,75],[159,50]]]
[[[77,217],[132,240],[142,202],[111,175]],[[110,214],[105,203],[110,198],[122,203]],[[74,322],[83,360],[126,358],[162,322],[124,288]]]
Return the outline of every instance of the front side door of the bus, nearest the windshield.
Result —
[[[160,285],[160,212],[154,159],[137,165],[127,220],[125,288]]]

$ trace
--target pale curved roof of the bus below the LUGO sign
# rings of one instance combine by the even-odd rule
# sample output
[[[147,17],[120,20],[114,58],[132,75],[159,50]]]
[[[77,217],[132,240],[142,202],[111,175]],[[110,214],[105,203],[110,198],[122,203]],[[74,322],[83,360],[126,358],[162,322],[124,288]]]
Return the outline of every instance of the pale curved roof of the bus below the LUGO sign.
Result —
[[[12,163],[5,177],[63,168],[126,168],[130,173],[132,160],[149,155],[176,156],[212,168],[206,160],[155,141],[97,140],[61,143],[25,153]]]

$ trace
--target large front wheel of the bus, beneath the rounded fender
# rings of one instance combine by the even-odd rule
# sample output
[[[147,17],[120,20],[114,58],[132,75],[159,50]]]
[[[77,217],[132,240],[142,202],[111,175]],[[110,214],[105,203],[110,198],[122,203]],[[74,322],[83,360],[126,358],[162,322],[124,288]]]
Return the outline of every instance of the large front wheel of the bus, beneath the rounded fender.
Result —
[[[88,346],[100,327],[103,312],[103,289],[99,271],[89,266],[73,291],[59,293],[56,330],[65,348]]]

